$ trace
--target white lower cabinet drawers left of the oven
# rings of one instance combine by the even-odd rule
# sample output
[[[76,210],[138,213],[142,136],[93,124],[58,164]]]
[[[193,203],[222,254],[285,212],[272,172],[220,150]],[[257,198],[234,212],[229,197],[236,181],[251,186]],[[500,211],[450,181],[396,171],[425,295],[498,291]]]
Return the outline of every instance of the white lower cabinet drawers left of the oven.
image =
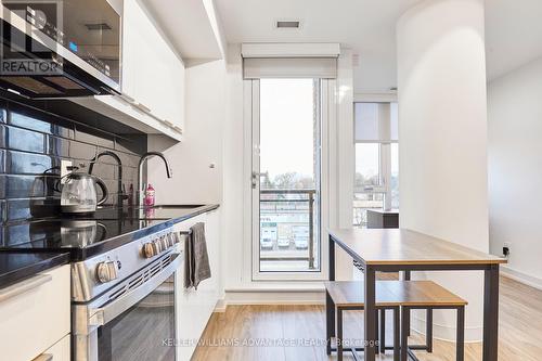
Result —
[[[2,289],[1,360],[30,361],[38,357],[48,360],[43,354],[50,349],[59,354],[54,361],[69,360],[69,278],[66,265]],[[61,340],[62,345],[57,345]]]

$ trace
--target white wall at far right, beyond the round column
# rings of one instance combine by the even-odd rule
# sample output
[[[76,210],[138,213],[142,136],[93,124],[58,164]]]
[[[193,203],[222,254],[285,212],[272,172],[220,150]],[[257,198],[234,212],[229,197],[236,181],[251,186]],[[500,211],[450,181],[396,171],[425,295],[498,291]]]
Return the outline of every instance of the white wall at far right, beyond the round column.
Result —
[[[491,253],[542,287],[542,57],[489,82],[488,125]]]

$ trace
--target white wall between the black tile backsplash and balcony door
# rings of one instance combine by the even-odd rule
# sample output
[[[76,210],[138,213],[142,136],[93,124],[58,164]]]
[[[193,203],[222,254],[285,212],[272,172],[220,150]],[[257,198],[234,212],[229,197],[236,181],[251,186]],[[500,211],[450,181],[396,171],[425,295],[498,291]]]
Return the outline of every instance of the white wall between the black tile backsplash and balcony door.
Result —
[[[157,204],[222,203],[224,104],[223,61],[186,68],[183,141],[173,144],[162,136],[149,137],[149,150],[164,152],[173,169],[173,178],[167,179],[160,159],[149,162]]]

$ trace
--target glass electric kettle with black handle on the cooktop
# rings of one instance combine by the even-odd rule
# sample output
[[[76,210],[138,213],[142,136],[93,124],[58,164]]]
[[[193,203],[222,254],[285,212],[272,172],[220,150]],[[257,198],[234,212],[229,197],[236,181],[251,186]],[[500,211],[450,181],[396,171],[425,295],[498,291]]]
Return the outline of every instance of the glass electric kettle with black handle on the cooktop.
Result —
[[[100,178],[83,172],[70,172],[64,176],[65,182],[61,194],[61,211],[66,214],[88,214],[107,201],[109,192]],[[96,185],[102,189],[102,198],[98,201]]]

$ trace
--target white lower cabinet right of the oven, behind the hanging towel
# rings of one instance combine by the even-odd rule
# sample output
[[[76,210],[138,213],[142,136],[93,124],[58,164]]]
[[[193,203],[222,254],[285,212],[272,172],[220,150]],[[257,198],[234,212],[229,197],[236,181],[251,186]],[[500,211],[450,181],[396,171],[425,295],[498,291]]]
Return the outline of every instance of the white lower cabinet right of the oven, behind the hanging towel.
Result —
[[[177,298],[177,359],[190,360],[215,306],[222,297],[220,281],[220,214],[219,209],[199,215],[176,225],[177,231],[188,231],[197,222],[205,222],[205,237],[211,268],[211,278],[199,283],[197,289],[184,288],[184,266],[177,272],[180,285]]]

